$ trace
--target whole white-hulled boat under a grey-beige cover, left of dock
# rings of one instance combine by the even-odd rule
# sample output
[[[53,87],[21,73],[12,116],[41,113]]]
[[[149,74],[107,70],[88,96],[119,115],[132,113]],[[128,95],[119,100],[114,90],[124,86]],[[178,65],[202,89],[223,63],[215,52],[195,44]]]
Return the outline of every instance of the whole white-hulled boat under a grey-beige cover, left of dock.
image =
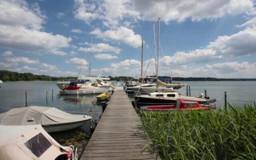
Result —
[[[46,132],[60,132],[81,126],[90,128],[91,116],[69,114],[54,107],[28,106],[0,114],[0,125],[41,124]]]

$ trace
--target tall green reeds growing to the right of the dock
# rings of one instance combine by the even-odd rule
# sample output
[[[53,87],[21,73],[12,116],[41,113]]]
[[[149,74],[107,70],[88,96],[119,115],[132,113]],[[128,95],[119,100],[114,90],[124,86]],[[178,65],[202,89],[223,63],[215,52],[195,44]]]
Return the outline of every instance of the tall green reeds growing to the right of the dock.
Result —
[[[256,159],[256,106],[244,109],[142,113],[163,160]]]

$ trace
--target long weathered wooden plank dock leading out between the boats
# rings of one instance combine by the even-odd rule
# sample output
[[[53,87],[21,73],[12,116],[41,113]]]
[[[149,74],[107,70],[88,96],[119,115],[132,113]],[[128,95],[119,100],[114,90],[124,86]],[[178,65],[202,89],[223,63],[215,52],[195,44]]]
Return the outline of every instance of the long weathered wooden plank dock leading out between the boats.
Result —
[[[115,90],[80,160],[160,160],[148,150],[142,122],[128,96]]]

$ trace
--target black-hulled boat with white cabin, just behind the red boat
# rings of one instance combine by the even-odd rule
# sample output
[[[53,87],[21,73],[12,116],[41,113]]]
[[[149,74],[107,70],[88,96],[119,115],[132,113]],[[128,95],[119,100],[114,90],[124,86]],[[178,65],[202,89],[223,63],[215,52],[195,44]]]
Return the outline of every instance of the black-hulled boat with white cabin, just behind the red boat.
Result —
[[[216,99],[207,100],[204,97],[204,94],[200,94],[198,97],[195,96],[180,96],[178,92],[154,92],[148,95],[138,95],[134,96],[135,101],[140,106],[145,105],[168,105],[176,103],[177,99],[184,99],[188,101],[196,101],[199,103],[212,103],[215,102]]]

